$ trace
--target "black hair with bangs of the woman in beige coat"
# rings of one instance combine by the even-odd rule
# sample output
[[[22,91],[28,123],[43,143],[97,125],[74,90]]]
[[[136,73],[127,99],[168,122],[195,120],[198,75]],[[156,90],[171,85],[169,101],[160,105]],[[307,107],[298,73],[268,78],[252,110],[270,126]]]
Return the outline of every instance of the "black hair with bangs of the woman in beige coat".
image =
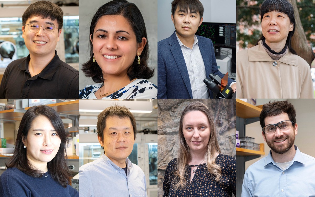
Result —
[[[272,11],[282,12],[282,13],[287,14],[289,16],[290,23],[293,24],[293,30],[291,32],[289,32],[288,37],[287,37],[287,41],[285,44],[288,45],[289,51],[291,53],[297,55],[295,50],[291,46],[291,38],[295,32],[295,18],[294,18],[293,6],[291,5],[291,3],[288,0],[265,0],[261,4],[261,8],[260,8],[261,21],[263,19],[264,14],[266,14],[267,12],[272,12]],[[266,38],[261,34],[261,37],[259,38],[259,40],[264,40],[264,39],[266,39]]]

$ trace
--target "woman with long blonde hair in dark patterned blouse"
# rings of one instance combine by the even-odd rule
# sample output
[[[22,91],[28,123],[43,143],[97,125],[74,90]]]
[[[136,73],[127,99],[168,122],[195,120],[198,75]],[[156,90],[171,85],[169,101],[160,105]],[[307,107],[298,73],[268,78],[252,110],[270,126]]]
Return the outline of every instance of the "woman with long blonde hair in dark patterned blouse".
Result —
[[[221,154],[215,122],[206,105],[194,101],[185,107],[178,140],[178,158],[165,171],[164,197],[236,195],[236,159]]]

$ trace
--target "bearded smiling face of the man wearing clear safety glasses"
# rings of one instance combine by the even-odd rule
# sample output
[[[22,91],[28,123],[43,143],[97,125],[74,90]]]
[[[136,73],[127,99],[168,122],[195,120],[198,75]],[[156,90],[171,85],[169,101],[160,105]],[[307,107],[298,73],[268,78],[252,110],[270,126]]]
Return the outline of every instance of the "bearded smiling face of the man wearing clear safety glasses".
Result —
[[[278,122],[290,120],[287,113],[281,113],[276,116],[270,116],[265,118],[265,125],[269,124],[277,124]],[[289,130],[281,131],[278,127],[276,127],[276,131],[273,134],[266,134],[262,131],[262,136],[264,137],[265,142],[267,142],[269,148],[278,154],[284,154],[292,148],[295,135],[297,134],[297,124]]]

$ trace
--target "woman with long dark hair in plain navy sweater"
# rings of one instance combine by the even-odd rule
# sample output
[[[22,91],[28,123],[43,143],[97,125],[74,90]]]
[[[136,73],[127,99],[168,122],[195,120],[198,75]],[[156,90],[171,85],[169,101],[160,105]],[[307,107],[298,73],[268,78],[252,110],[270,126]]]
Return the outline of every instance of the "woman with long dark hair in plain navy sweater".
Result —
[[[77,197],[69,185],[65,128],[59,114],[46,105],[23,115],[13,156],[0,177],[0,196]]]

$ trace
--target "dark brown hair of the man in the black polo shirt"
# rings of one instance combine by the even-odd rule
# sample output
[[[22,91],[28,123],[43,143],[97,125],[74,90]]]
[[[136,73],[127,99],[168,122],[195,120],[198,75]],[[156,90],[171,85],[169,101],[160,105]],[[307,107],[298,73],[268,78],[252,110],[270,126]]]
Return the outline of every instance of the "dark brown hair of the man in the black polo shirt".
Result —
[[[63,26],[63,11],[62,9],[49,1],[38,1],[32,3],[22,15],[23,26],[26,24],[27,19],[37,16],[42,19],[56,20],[58,22],[58,30]]]

